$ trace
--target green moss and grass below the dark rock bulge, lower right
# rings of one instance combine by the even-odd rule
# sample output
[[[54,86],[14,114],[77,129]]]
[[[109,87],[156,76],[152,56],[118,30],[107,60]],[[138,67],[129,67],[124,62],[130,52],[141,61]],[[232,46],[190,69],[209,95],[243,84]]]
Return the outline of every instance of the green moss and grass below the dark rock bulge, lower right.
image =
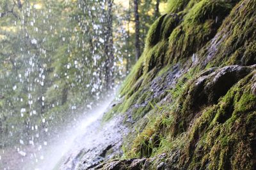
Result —
[[[168,106],[169,109],[172,108],[169,113],[167,107],[156,110],[157,113],[164,110],[168,114],[159,117],[154,121],[154,124],[148,125],[136,138],[132,147],[132,156],[148,157],[179,149],[183,150],[184,153],[179,159],[180,166],[189,169],[205,169],[206,167],[209,169],[236,167],[237,169],[238,167],[252,168],[255,166],[250,157],[245,157],[244,152],[239,148],[237,149],[240,145],[252,143],[246,137],[248,134],[246,129],[250,127],[252,128],[250,131],[256,130],[256,126],[252,124],[256,118],[256,96],[252,94],[252,85],[255,81],[253,79],[254,74],[255,72],[239,81],[220,99],[218,104],[202,109],[200,111],[202,113],[198,113],[200,114],[199,118],[195,120],[191,130],[186,131],[186,135],[180,133],[173,136],[172,130],[170,130],[175,122],[181,123],[180,119],[177,120],[176,114],[179,112],[172,108],[173,104]],[[237,129],[238,127],[239,129]],[[182,142],[185,139],[189,141],[188,145]],[[253,154],[252,145],[243,147],[249,150],[250,154]],[[246,164],[239,164],[239,160],[237,160],[239,158],[235,157],[234,154],[241,155]],[[227,159],[229,157],[230,160]],[[185,160],[186,162],[183,162]]]

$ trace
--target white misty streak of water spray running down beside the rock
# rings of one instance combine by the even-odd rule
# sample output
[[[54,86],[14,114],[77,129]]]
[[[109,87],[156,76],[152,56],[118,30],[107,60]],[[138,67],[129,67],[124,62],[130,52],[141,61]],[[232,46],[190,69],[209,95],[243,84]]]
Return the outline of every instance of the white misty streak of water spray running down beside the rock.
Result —
[[[76,151],[79,149],[77,148],[78,145],[84,143],[84,141],[81,141],[83,140],[81,136],[83,136],[86,131],[92,130],[88,129],[88,127],[102,117],[112,99],[113,97],[108,97],[108,101],[101,102],[97,105],[97,108],[93,108],[90,113],[84,114],[72,128],[67,129],[65,132],[59,132],[59,137],[56,136],[53,138],[51,143],[45,146],[42,152],[39,152],[44,159],[39,160],[38,162],[35,162],[35,160],[25,162],[28,164],[25,169],[59,169],[61,164],[63,164],[61,161],[65,160],[64,158],[67,156],[67,153],[70,154],[70,152]]]

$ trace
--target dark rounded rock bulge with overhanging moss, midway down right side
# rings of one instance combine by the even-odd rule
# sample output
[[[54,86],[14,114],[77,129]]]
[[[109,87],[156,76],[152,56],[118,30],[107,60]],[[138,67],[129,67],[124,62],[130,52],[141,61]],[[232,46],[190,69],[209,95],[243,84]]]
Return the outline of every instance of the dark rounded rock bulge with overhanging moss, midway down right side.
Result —
[[[175,113],[177,122],[173,132],[187,131],[198,111],[206,106],[217,104],[220,97],[225,96],[237,81],[251,73],[252,70],[252,67],[243,66],[226,66],[216,71],[209,69],[195,80],[190,81],[189,86],[178,99],[180,109]]]

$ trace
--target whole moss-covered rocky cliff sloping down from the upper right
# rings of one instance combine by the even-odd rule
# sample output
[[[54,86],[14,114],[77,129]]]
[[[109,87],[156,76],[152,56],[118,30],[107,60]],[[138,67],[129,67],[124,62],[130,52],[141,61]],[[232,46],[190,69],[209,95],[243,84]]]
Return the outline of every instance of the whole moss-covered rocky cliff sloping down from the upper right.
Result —
[[[256,169],[256,1],[170,0],[104,122],[131,130],[95,169]]]

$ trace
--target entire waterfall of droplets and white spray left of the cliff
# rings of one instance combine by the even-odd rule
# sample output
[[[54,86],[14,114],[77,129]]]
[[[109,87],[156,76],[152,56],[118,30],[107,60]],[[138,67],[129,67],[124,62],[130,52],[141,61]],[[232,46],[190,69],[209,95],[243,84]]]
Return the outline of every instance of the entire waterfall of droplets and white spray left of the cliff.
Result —
[[[79,136],[111,101],[102,96],[131,66],[115,8],[107,0],[0,1],[0,169],[53,169],[83,144]]]

